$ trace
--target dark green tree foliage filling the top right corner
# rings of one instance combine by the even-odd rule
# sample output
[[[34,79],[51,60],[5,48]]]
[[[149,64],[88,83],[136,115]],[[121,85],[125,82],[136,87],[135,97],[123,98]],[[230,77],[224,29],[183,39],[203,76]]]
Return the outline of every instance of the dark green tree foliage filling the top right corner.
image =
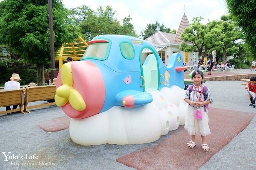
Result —
[[[247,53],[256,58],[256,1],[226,0],[227,8],[234,20],[241,27],[243,39],[246,42]]]

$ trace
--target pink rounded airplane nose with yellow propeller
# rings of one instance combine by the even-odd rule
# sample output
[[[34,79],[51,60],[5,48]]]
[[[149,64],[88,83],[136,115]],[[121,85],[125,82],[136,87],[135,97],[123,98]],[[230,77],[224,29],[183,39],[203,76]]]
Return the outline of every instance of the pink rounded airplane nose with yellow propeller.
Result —
[[[83,119],[101,111],[105,101],[105,83],[94,63],[66,63],[58,74],[59,79],[55,102],[69,117]]]

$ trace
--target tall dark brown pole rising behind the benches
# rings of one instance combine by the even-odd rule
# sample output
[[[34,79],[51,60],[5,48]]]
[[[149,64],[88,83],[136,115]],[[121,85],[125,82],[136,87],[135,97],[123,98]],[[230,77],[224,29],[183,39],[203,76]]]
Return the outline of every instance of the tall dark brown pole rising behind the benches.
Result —
[[[52,61],[51,78],[56,78],[57,72],[55,68],[55,55],[54,55],[52,0],[48,0],[48,11],[49,11],[50,47],[51,47],[51,61]]]

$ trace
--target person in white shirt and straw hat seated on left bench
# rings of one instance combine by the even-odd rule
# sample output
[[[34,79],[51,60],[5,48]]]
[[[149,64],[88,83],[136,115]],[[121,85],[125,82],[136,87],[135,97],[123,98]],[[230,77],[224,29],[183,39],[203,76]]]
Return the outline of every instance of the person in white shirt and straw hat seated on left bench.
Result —
[[[20,81],[20,75],[14,73],[12,74],[12,77],[10,78],[10,81],[7,81],[5,83],[5,88],[4,90],[16,90],[16,89],[20,89],[20,83],[18,81]],[[16,109],[18,107],[18,105],[13,105],[12,109]],[[11,106],[6,106],[6,110],[11,110]]]

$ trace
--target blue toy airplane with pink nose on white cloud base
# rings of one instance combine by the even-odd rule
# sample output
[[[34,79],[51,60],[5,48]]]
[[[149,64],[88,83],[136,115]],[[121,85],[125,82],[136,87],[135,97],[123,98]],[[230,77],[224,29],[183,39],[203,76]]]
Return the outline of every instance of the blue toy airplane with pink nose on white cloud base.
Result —
[[[101,35],[87,44],[80,61],[61,67],[56,83],[56,105],[72,118],[72,141],[85,146],[150,143],[184,125],[186,67],[180,53],[165,66],[143,39]],[[153,54],[143,62],[145,48]]]

